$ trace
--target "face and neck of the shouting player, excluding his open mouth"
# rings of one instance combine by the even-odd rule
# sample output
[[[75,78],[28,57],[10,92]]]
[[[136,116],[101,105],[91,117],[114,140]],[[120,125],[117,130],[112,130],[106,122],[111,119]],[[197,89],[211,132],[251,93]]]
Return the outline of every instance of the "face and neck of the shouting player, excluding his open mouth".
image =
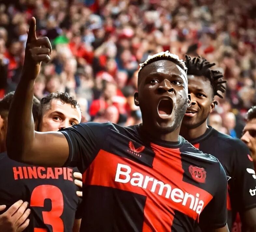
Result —
[[[186,78],[180,70],[172,61],[158,60],[139,73],[135,105],[140,106],[142,112],[143,130],[151,137],[178,141],[181,120],[190,105]],[[170,101],[173,108],[170,116],[159,115],[161,99]]]

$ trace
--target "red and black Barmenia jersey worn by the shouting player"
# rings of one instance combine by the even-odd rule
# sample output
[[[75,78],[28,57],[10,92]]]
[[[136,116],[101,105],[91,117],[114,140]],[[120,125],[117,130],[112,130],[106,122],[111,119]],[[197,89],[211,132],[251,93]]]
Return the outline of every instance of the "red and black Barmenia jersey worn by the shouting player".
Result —
[[[199,218],[208,228],[226,224],[222,166],[181,136],[152,141],[139,125],[94,122],[61,132],[69,144],[65,165],[83,173],[80,231],[188,232]]]

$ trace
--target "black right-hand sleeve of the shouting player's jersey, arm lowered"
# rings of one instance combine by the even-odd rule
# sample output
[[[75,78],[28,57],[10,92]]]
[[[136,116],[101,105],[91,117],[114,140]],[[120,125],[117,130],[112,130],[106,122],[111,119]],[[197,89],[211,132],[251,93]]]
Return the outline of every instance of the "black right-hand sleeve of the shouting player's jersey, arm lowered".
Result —
[[[224,227],[227,223],[227,176],[219,163],[219,176],[216,177],[216,192],[199,217],[199,225],[203,231]]]

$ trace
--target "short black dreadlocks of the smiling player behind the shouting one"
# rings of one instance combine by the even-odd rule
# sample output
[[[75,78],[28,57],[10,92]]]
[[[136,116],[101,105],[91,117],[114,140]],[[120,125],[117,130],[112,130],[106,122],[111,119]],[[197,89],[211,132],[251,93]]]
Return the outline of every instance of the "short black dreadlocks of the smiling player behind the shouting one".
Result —
[[[212,97],[217,95],[223,98],[223,96],[218,93],[218,90],[225,93],[226,87],[223,84],[227,81],[223,79],[223,74],[220,71],[210,69],[215,63],[210,63],[200,56],[192,58],[188,55],[186,55],[185,63],[188,68],[188,75],[204,76],[211,83],[213,89]]]

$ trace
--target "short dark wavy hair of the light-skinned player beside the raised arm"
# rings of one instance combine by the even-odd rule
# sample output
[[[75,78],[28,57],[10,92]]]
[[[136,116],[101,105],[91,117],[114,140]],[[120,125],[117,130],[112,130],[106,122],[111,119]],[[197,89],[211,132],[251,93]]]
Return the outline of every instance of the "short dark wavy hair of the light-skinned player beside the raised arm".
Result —
[[[41,113],[45,110],[50,109],[51,101],[53,99],[59,99],[62,103],[70,104],[71,107],[76,108],[78,107],[81,111],[80,105],[78,104],[77,100],[75,100],[73,97],[70,97],[68,93],[64,92],[53,92],[46,97],[43,97],[41,100]],[[81,111],[82,112],[82,111]]]

